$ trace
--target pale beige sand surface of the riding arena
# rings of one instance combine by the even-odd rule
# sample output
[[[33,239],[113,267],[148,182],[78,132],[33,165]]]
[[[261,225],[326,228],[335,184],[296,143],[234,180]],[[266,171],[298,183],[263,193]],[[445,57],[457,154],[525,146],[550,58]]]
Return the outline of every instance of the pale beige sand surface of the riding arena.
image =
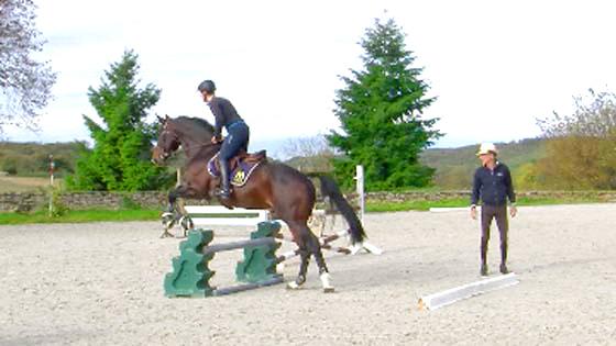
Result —
[[[466,211],[367,214],[385,254],[326,253],[333,294],[312,263],[304,290],[208,299],[164,297],[180,239],[160,239],[158,223],[0,226],[0,345],[615,345],[615,225],[616,204],[520,208],[509,235],[520,283],[436,311],[419,297],[480,279]],[[216,230],[215,242],[248,230]],[[494,226],[490,245],[497,276]],[[217,255],[212,283],[231,284],[240,259]],[[292,259],[285,279],[297,270]]]

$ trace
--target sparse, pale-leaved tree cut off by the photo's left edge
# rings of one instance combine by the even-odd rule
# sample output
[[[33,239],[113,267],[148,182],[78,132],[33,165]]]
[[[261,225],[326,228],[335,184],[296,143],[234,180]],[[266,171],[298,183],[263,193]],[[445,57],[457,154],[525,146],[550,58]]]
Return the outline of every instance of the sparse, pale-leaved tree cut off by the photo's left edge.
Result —
[[[38,112],[52,97],[55,74],[35,54],[43,40],[32,0],[0,0],[0,134],[4,125],[35,130]]]

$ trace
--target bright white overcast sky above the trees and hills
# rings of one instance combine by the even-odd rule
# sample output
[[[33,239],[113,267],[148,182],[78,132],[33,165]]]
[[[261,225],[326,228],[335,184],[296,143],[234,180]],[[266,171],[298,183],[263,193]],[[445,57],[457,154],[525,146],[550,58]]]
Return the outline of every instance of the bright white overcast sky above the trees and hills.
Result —
[[[196,91],[210,78],[250,124],[251,149],[327,133],[339,126],[339,76],[362,68],[358,43],[375,18],[407,34],[438,97],[426,116],[441,119],[440,147],[536,136],[536,118],[570,113],[572,97],[616,86],[613,1],[35,2],[55,99],[40,134],[8,129],[11,141],[89,139],[88,87],[129,48],[141,80],[163,90],[152,115],[213,121]]]

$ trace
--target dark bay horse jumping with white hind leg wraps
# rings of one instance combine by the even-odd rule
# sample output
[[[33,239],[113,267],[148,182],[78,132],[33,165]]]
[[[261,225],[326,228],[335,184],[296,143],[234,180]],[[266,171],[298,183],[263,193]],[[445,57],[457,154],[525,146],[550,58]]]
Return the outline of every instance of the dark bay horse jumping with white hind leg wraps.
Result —
[[[176,200],[180,197],[211,200],[219,178],[206,167],[221,147],[221,144],[210,142],[213,126],[205,119],[189,116],[158,116],[158,122],[160,133],[152,150],[152,161],[164,164],[180,146],[187,158],[182,185],[168,193],[168,212],[177,211]],[[242,187],[233,188],[230,199],[219,202],[227,208],[270,210],[288,225],[300,257],[299,272],[295,281],[287,283],[289,289],[299,289],[306,282],[309,259],[314,256],[323,291],[334,291],[319,239],[308,227],[316,203],[316,189],[307,176],[287,165],[264,159]],[[350,222],[349,233],[353,244],[363,242],[365,237],[359,221]]]

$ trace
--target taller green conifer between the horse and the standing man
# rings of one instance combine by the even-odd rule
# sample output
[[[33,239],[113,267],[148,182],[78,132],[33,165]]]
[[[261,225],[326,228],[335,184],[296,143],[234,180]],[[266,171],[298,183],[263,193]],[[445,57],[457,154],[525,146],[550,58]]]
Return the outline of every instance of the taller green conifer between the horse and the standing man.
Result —
[[[345,87],[337,91],[336,115],[343,133],[328,135],[344,154],[334,159],[336,175],[351,182],[361,164],[369,190],[425,187],[435,169],[421,165],[419,154],[442,134],[432,130],[438,119],[421,118],[436,100],[426,97],[422,69],[411,67],[415,57],[393,20],[376,20],[360,44],[364,68],[341,77]]]

